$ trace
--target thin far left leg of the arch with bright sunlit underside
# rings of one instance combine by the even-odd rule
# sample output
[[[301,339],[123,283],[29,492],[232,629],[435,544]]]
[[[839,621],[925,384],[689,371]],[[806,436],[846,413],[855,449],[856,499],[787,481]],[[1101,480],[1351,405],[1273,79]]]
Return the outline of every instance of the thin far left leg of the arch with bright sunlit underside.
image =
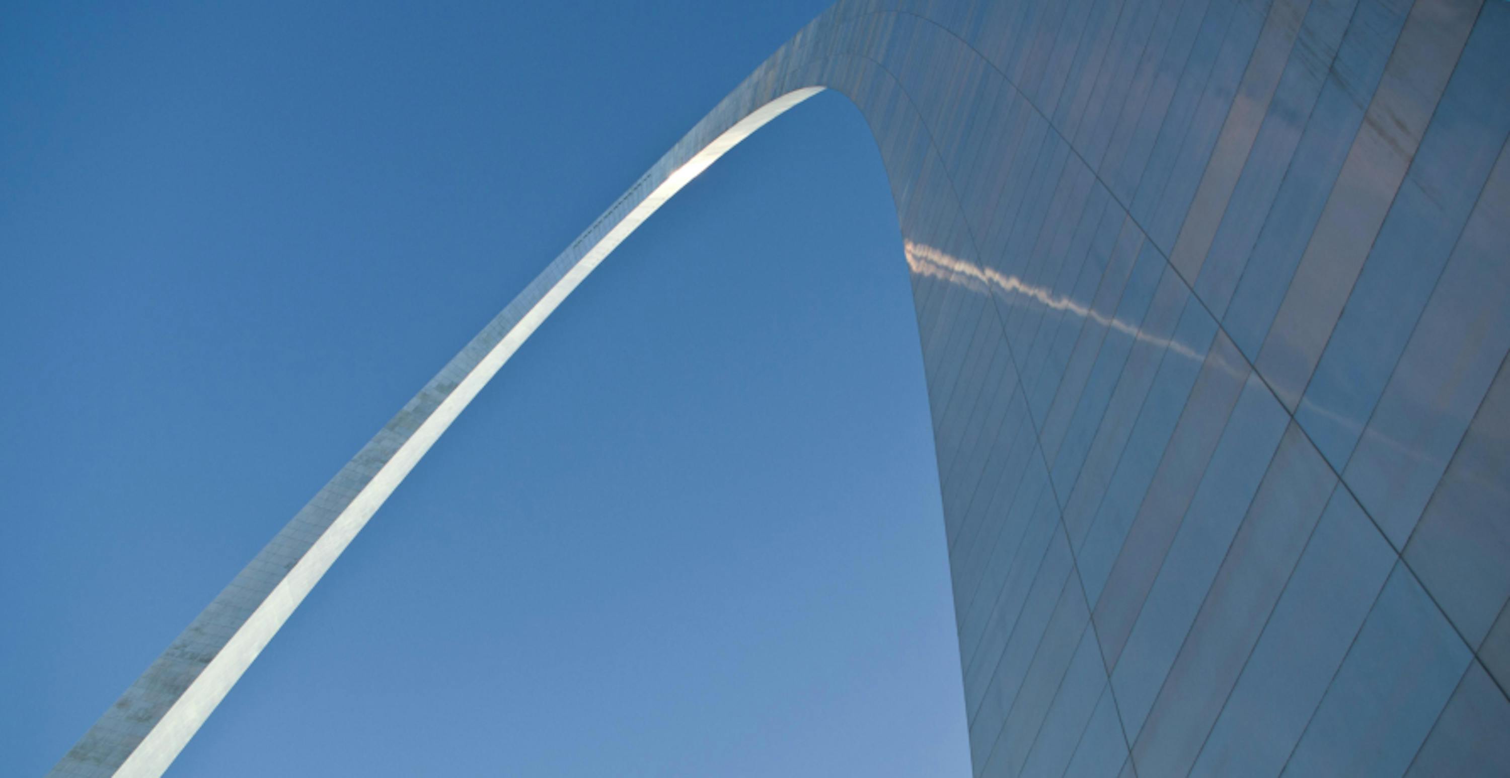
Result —
[[[539,325],[725,153],[821,92],[814,27],[755,69],[432,378],[195,618],[48,773],[162,775],[335,559]],[[811,80],[811,79],[809,79]],[[790,86],[803,83],[802,86]]]

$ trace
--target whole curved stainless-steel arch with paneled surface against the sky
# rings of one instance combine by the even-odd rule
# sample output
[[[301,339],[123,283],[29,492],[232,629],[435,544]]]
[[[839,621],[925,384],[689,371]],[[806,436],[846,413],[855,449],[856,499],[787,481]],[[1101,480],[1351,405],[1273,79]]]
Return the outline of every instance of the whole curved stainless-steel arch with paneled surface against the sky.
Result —
[[[53,775],[163,772],[566,295],[820,89],[901,224],[975,775],[1505,775],[1507,50],[1501,0],[841,0]]]

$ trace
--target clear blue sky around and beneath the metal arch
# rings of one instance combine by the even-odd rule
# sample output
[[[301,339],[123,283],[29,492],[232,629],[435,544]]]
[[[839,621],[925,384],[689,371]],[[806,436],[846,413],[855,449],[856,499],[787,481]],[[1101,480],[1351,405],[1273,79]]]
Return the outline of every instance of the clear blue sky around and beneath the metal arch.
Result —
[[[6,8],[0,772],[824,5]],[[895,213],[824,94],[556,313],[171,775],[963,776],[957,662]]]

